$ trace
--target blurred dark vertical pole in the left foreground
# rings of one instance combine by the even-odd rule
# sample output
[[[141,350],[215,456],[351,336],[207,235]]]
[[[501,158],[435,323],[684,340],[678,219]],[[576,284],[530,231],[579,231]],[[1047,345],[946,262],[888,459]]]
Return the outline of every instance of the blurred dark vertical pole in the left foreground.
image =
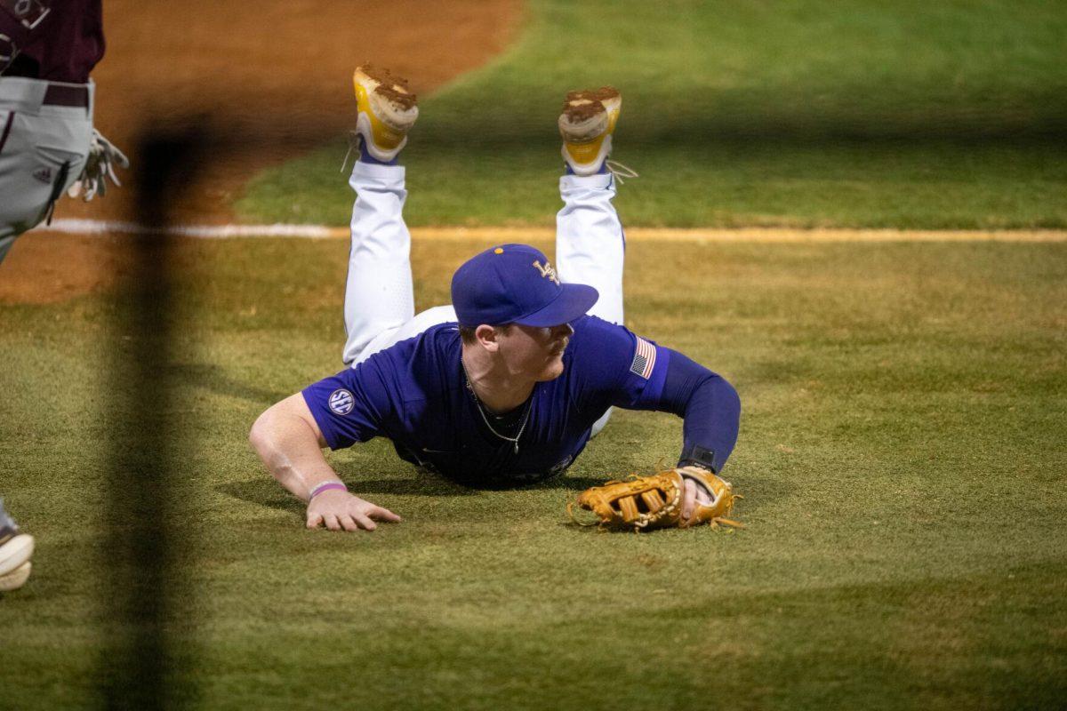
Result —
[[[202,133],[172,131],[146,134],[133,153],[137,222],[145,230],[130,242],[133,266],[118,289],[105,399],[112,441],[102,551],[107,641],[97,679],[107,709],[174,709],[190,699],[170,636],[189,592],[176,565],[185,536],[175,533],[191,522],[174,492],[182,433],[171,381],[175,238],[164,228],[205,152]]]

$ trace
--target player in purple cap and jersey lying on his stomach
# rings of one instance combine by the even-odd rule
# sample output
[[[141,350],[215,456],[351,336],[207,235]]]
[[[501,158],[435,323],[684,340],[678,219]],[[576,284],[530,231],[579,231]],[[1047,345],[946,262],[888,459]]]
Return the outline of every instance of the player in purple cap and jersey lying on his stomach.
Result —
[[[250,435],[271,474],[307,502],[307,528],[401,520],[349,491],[325,447],[387,437],[401,458],[451,480],[519,486],[571,466],[612,407],[684,418],[684,443],[674,504],[646,491],[606,504],[607,515],[642,526],[671,510],[679,524],[695,520],[723,491],[715,474],[737,439],[740,402],[721,376],[622,325],[625,238],[607,166],[619,92],[571,92],[559,117],[557,263],[528,245],[494,245],[456,271],[450,306],[415,314],[397,162],[415,96],[386,70],[363,66],[353,79],[348,368],[268,408]]]

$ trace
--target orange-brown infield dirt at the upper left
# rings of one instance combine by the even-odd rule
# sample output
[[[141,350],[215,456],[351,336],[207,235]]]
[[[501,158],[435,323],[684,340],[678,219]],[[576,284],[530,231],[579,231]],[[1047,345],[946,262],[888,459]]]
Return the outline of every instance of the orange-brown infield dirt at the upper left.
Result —
[[[499,53],[521,11],[520,0],[109,0],[107,53],[93,72],[96,125],[132,161],[147,127],[210,123],[256,136],[252,155],[209,160],[204,180],[173,206],[180,222],[227,223],[257,169],[351,128],[355,64],[391,67],[430,92]],[[64,198],[55,216],[129,220],[132,192],[87,205]],[[102,286],[118,259],[113,246],[20,239],[0,264],[0,300],[50,302]]]

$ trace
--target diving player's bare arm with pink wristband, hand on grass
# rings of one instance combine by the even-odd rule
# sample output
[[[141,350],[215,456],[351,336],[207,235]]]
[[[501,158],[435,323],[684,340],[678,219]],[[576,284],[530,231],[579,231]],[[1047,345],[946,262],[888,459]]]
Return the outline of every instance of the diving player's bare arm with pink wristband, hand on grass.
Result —
[[[387,508],[344,487],[322,454],[327,441],[303,393],[290,395],[260,415],[249,441],[274,479],[307,501],[307,528],[324,524],[331,531],[373,531],[376,519],[400,520]]]

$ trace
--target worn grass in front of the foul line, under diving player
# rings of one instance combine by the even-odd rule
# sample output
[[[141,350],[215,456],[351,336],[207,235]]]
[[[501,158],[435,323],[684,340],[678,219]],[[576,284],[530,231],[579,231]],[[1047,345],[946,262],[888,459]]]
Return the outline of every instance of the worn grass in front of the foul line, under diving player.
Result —
[[[419,305],[479,246],[416,243]],[[674,457],[672,416],[619,411],[567,478],[516,491],[376,441],[332,460],[405,521],[305,531],[245,437],[339,368],[347,245],[177,253],[175,702],[1063,708],[1064,243],[631,244],[628,325],[742,394],[724,474],[749,527],[640,536],[575,528],[564,502]],[[121,674],[102,566],[130,522],[107,503],[108,438],[143,425],[109,417],[131,394],[110,367],[147,337],[110,325],[123,308],[0,306],[0,491],[38,539],[30,583],[0,596],[4,709],[95,708]]]

